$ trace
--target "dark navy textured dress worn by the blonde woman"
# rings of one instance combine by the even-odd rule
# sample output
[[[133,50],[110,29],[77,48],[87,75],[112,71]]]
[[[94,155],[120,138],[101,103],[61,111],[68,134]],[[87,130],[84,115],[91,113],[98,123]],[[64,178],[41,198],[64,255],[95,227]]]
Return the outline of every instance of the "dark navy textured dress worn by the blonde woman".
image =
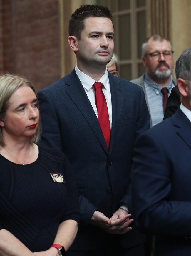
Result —
[[[39,146],[37,160],[26,165],[0,155],[0,173],[0,229],[32,252],[50,248],[62,221],[79,221],[76,185],[61,151]],[[62,173],[65,183],[54,182],[50,173]]]

